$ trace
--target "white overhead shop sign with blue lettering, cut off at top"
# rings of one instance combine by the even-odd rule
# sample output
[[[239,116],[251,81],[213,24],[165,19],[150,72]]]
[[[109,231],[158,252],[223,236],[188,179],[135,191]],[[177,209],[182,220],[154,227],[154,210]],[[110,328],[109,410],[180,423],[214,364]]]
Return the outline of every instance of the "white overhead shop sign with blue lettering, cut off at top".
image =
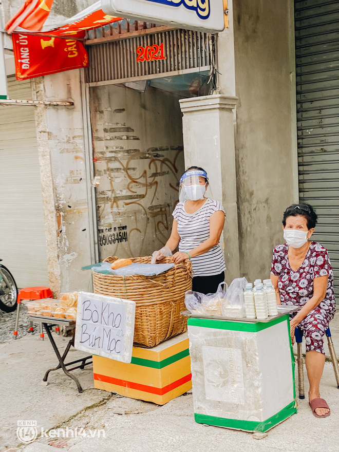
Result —
[[[224,29],[223,0],[101,0],[106,14],[217,33]]]

